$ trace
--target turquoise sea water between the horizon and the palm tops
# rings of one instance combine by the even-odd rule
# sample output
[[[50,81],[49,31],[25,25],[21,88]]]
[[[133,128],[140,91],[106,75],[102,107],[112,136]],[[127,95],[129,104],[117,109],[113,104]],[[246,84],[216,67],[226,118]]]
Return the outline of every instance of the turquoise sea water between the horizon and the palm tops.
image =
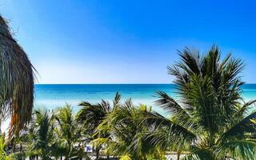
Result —
[[[175,85],[172,84],[75,84],[75,85],[36,85],[35,107],[54,109],[69,103],[77,111],[79,102],[100,102],[101,99],[112,101],[116,92],[122,94],[122,101],[132,98],[134,104],[143,103],[154,106],[155,91],[163,90],[177,98]],[[256,84],[243,86],[243,98],[256,98]],[[162,112],[154,107],[154,110]]]

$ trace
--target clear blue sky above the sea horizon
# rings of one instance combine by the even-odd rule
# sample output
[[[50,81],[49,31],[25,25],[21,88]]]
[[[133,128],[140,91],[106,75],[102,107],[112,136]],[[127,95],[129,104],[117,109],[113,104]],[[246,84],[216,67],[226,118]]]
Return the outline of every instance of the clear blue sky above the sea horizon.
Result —
[[[1,0],[39,83],[170,83],[176,50],[243,58],[256,82],[254,1]]]

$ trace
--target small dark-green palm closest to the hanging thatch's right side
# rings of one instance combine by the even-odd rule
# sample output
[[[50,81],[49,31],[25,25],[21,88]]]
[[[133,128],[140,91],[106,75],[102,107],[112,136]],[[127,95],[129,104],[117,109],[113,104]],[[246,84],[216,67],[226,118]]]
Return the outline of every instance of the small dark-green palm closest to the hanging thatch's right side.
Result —
[[[35,110],[29,129],[30,156],[50,159],[52,146],[54,145],[53,127],[52,116],[48,111]]]

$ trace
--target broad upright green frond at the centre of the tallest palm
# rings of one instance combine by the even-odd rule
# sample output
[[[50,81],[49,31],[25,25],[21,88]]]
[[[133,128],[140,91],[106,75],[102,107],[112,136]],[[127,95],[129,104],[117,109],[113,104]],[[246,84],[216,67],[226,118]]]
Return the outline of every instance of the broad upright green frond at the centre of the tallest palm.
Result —
[[[208,77],[194,75],[191,77],[190,90],[186,95],[186,103],[193,106],[191,112],[194,121],[210,133],[218,131],[221,120],[217,116],[220,110],[216,107],[214,89]]]

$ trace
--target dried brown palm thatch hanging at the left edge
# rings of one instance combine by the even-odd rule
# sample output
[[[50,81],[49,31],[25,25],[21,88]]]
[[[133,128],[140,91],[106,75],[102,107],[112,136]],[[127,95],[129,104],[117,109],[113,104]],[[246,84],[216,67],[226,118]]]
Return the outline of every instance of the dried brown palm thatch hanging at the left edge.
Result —
[[[10,116],[10,135],[30,121],[34,102],[34,67],[0,15],[0,118]]]

